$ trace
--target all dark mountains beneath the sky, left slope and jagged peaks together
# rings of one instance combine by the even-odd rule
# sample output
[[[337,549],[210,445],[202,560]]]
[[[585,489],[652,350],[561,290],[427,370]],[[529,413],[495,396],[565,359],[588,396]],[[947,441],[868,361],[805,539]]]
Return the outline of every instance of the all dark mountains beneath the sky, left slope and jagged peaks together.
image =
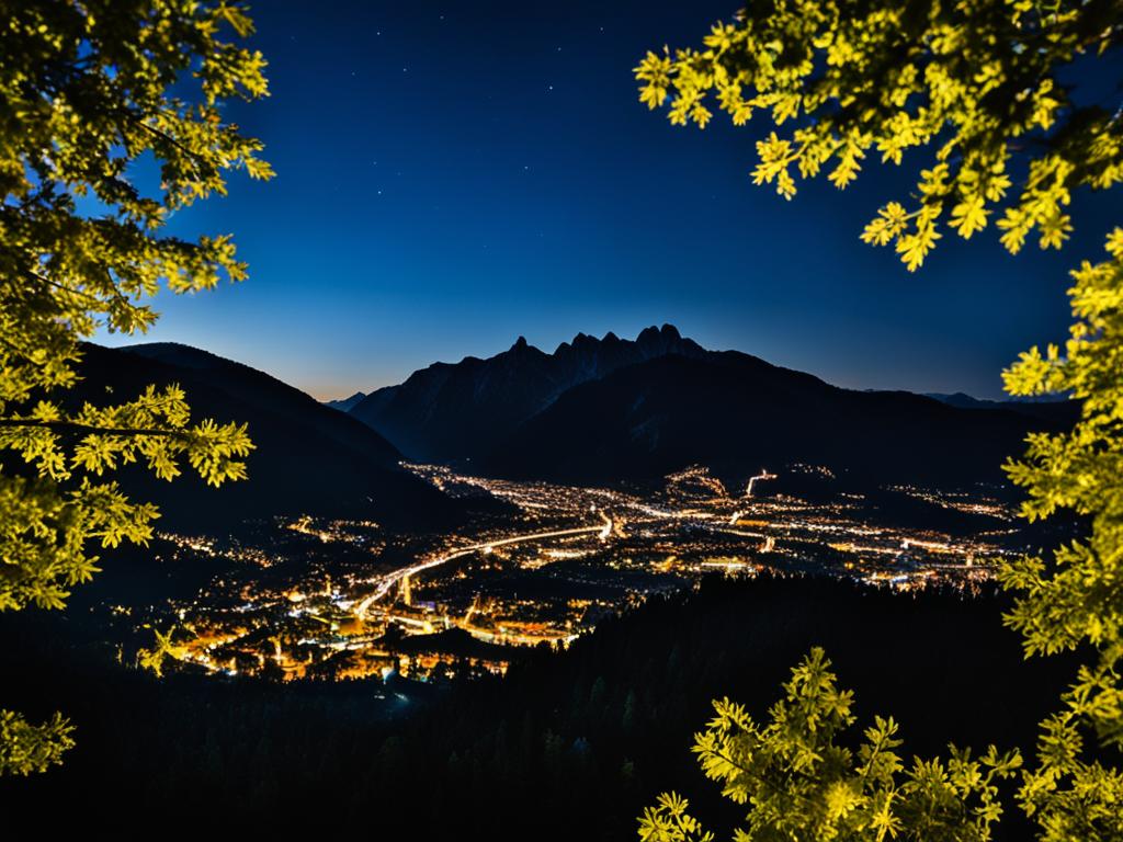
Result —
[[[867,486],[962,485],[1002,479],[998,466],[1030,430],[1060,429],[1076,411],[1075,402],[839,388],[706,350],[669,324],[634,340],[578,333],[553,354],[520,338],[494,357],[437,363],[353,395],[341,409],[175,344],[88,345],[80,374],[61,400],[107,403],[177,383],[193,418],[248,423],[257,446],[248,482],[216,489],[186,473],[165,483],[136,466],[120,472],[126,491],[159,504],[171,527],[307,513],[446,528],[499,505],[449,497],[403,470],[403,459],[569,483],[657,481],[692,464],[737,479],[803,463]]]

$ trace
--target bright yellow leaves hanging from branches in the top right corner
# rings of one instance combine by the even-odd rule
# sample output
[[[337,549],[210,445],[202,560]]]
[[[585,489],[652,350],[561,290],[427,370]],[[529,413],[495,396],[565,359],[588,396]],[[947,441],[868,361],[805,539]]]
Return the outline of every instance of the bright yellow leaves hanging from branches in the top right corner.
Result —
[[[1077,106],[1056,77],[1081,54],[1119,46],[1121,20],[1115,3],[1076,0],[748,3],[712,27],[702,51],[649,53],[636,77],[649,108],[675,91],[675,125],[704,127],[711,113],[700,103],[710,93],[737,126],[757,109],[777,127],[794,123],[789,136],[757,144],[754,170],[757,184],[775,184],[785,199],[796,192],[795,171],[814,177],[832,162],[828,177],[844,187],[869,149],[901,164],[910,149],[938,143],[943,177],[922,176],[911,212],[947,205],[965,238],[996,214],[1008,250],[1034,230],[1041,248],[1059,248],[1071,231],[1060,210],[1070,191],[1123,180],[1123,121]],[[1020,192],[1011,198],[1015,168]],[[894,244],[917,268],[940,237],[934,226],[911,230],[882,218],[862,239]]]

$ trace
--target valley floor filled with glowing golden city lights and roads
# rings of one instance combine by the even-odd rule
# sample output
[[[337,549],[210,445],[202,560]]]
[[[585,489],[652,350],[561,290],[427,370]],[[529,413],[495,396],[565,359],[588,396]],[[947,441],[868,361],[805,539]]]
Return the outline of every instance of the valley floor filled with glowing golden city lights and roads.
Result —
[[[167,653],[181,671],[442,680],[502,674],[522,648],[567,647],[604,617],[706,577],[825,574],[977,592],[1024,543],[1013,510],[983,486],[859,494],[800,464],[736,486],[691,467],[617,488],[403,467],[503,513],[447,533],[311,515],[259,521],[240,539],[163,533],[158,561],[207,558],[220,571],[186,598],[117,608],[118,634],[143,646],[149,629],[172,629]]]

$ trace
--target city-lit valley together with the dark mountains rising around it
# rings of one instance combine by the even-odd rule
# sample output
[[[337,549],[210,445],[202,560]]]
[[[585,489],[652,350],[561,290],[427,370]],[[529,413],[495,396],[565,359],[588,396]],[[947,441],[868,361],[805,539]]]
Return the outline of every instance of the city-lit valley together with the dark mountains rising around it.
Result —
[[[520,338],[328,404],[173,344],[88,346],[83,372],[182,385],[257,443],[217,492],[122,472],[168,516],[83,597],[86,639],[286,683],[502,675],[706,578],[977,593],[1035,540],[997,466],[1071,411],[843,390],[669,324]]]

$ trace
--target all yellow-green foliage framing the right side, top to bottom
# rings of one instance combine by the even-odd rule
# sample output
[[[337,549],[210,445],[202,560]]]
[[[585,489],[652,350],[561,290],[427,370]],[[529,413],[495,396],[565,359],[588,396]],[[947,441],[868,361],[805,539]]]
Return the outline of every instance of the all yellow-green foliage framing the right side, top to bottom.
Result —
[[[704,128],[712,95],[736,125],[767,109],[777,127],[794,126],[757,144],[754,171],[757,184],[775,184],[786,199],[796,191],[793,167],[802,177],[829,167],[828,177],[841,189],[870,150],[883,163],[901,164],[906,150],[934,147],[911,207],[888,202],[862,234],[869,244],[894,242],[914,271],[940,239],[941,223],[969,238],[995,216],[1010,251],[1034,231],[1041,248],[1059,248],[1072,228],[1066,209],[1074,192],[1123,181],[1123,107],[1077,103],[1059,81],[1074,62],[1094,62],[1121,40],[1119,0],[765,0],[715,25],[702,49],[648,53],[636,76],[640,100],[655,109],[669,99],[676,125]],[[1031,436],[1024,457],[1005,466],[1028,492],[1024,518],[1069,510],[1090,523],[1084,540],[1049,557],[1004,562],[998,571],[1002,585],[1017,594],[1005,620],[1023,634],[1026,657],[1090,655],[1060,710],[1041,723],[1032,760],[1020,771],[1019,803],[1048,842],[1123,839],[1123,230],[1108,235],[1107,251],[1107,260],[1085,262],[1072,272],[1075,321],[1063,348],[1034,347],[1004,373],[1011,394],[1059,393],[1081,402],[1071,431]],[[796,676],[806,676],[815,658]],[[807,710],[839,715],[833,680],[804,679],[802,686],[810,694]],[[789,704],[794,687],[788,685]],[[776,791],[761,796],[763,782],[741,777],[732,786],[729,774],[742,772],[720,767],[724,793],[752,805],[743,839],[847,838],[815,824],[837,797],[832,782],[843,781],[841,803],[870,809],[876,802],[851,800],[865,793],[846,782],[849,769],[829,762],[831,753],[813,749],[816,763],[807,771],[795,750],[801,743],[792,742],[804,739],[803,732],[777,726],[777,710],[773,725],[759,729],[739,707],[722,703],[695,745],[703,769],[715,777],[719,768],[704,747],[732,740],[747,752],[752,774],[773,776]],[[830,743],[822,748],[836,751]],[[988,775],[1007,775],[1020,762],[1020,754],[985,757],[998,763]],[[953,752],[944,768],[962,758]],[[796,794],[806,787],[816,789],[801,803]],[[964,789],[953,796],[960,813],[969,809],[968,795]],[[789,799],[786,827],[760,821],[763,805],[776,797]],[[696,838],[685,811],[681,798],[664,796],[641,818],[641,836]],[[858,807],[852,811],[848,815],[866,821]],[[898,824],[877,833],[941,838],[924,830],[924,821],[901,814]],[[986,825],[960,830],[946,838],[983,839],[969,834],[986,833]]]

